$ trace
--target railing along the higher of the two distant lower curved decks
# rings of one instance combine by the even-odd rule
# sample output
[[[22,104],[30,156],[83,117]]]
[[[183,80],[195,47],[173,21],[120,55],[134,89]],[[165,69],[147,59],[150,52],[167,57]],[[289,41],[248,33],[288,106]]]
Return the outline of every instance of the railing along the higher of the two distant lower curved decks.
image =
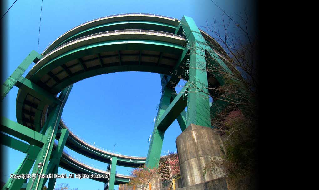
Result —
[[[74,136],[77,140],[81,141],[83,144],[87,145],[87,146],[90,146],[91,148],[93,149],[96,149],[100,152],[104,152],[104,153],[108,153],[108,154],[111,154],[111,155],[116,155],[116,156],[119,156],[119,157],[128,157],[128,158],[135,158],[135,159],[146,159],[146,157],[142,157],[142,156],[128,156],[128,155],[123,155],[119,152],[114,152],[114,151],[111,151],[111,150],[108,150],[108,149],[105,149],[103,147],[100,147],[100,146],[96,146],[95,143],[91,143],[85,139],[83,139],[82,137],[80,137],[78,134],[76,134],[75,132],[73,132],[69,127],[67,127],[64,119],[61,117],[61,123],[64,125],[65,128],[67,128],[69,130],[69,132],[72,134],[72,136]],[[130,159],[130,162],[135,162],[135,163],[145,163],[145,161],[137,161],[137,160],[131,160]]]

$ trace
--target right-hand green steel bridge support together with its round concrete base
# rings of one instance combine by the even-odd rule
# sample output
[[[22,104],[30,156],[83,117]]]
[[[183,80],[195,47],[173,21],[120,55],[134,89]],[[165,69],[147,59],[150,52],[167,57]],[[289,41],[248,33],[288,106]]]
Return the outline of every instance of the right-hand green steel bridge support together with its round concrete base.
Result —
[[[222,178],[225,174],[221,172],[219,175],[203,177],[202,169],[199,168],[200,165],[208,164],[211,156],[221,159],[219,147],[221,146],[221,139],[211,126],[211,118],[213,116],[211,116],[206,73],[206,53],[214,53],[214,51],[206,43],[192,18],[183,16],[180,26],[181,29],[176,29],[176,32],[182,30],[188,41],[188,46],[186,47],[189,50],[188,63],[184,65],[180,63],[187,70],[185,73],[188,75],[188,82],[181,92],[175,96],[172,95],[174,93],[171,89],[167,89],[165,84],[162,85],[163,94],[147,154],[146,165],[148,167],[158,167],[165,130],[174,119],[178,119],[182,134],[177,137],[176,146],[180,159],[183,186],[187,187]],[[219,62],[225,70],[229,71],[222,61],[219,60]],[[220,84],[223,84],[222,78],[217,79]],[[178,82],[177,79],[175,79],[176,81]],[[185,97],[187,98],[186,101]],[[185,118],[183,116],[186,105],[187,113]],[[174,113],[170,112],[171,110],[174,110]],[[186,126],[188,127],[186,128]],[[198,131],[200,131],[198,133],[200,135],[195,135]],[[206,149],[209,153],[202,149]],[[219,168],[219,170],[221,169]]]

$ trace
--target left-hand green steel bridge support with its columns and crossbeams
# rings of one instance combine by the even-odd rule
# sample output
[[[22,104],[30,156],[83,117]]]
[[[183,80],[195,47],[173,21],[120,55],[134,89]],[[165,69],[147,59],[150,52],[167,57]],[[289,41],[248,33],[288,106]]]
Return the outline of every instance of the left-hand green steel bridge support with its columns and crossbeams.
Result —
[[[2,99],[5,98],[5,96],[11,90],[13,85],[18,86],[19,88],[24,88],[27,85],[27,83],[21,82],[21,78],[23,81],[27,80],[24,77],[22,77],[22,75],[26,68],[32,63],[32,61],[36,62],[37,60],[41,59],[42,56],[39,55],[39,53],[32,51],[28,55],[28,57],[19,65],[17,70],[14,71],[11,74],[11,76],[4,82],[2,86]],[[30,173],[31,175],[33,173],[57,173],[62,151],[69,134],[69,131],[67,129],[58,130],[58,125],[63,112],[63,107],[70,94],[72,86],[73,85],[66,87],[61,92],[59,98],[52,98],[52,95],[50,95],[44,90],[41,90],[41,88],[39,88],[37,85],[33,84],[29,86],[31,91],[39,94],[39,97],[42,97],[46,100],[53,100],[51,102],[52,104],[50,105],[52,110],[49,113],[49,117],[45,122],[45,125],[41,129],[41,132],[29,129],[26,126],[20,125],[9,119],[1,118],[1,143],[20,152],[27,153],[26,157],[22,160],[21,164],[18,166],[14,174],[29,173],[33,164],[34,167],[32,172]],[[40,92],[38,91],[39,89]],[[56,145],[55,151],[52,152],[54,140],[56,139],[57,133],[61,133],[61,136],[58,141],[58,144]],[[18,139],[12,138],[7,134],[24,140],[29,144],[24,143]],[[56,179],[49,180],[48,189],[54,188],[55,180]],[[9,179],[2,188],[2,190],[20,189],[24,181],[25,180],[23,179]],[[32,190],[42,189],[46,181],[47,179],[30,179],[29,183],[27,183],[26,185],[26,188]]]

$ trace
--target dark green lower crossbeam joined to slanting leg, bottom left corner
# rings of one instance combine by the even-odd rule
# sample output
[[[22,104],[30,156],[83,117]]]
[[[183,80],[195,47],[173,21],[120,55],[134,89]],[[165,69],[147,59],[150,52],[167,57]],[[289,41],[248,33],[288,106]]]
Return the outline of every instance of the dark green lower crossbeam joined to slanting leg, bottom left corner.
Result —
[[[18,166],[17,170],[14,172],[14,174],[20,175],[20,174],[29,173],[36,159],[36,155],[39,153],[41,148],[37,146],[28,145],[18,139],[14,139],[3,133],[0,133],[0,139],[1,139],[1,144],[3,144],[4,146],[8,146],[10,148],[13,148],[22,153],[27,154],[26,157],[22,160],[22,162]],[[1,190],[20,189],[24,181],[25,181],[24,179],[9,179]]]

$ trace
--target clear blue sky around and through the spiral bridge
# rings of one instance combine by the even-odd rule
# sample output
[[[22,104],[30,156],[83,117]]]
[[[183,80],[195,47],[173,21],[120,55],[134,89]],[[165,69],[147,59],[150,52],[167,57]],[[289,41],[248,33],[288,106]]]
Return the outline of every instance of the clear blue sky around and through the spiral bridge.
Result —
[[[5,1],[2,14],[14,0]],[[228,14],[239,13],[246,8],[248,1],[216,0]],[[32,51],[38,49],[38,34],[41,0],[18,0],[1,20],[4,28],[3,59],[4,75],[2,82]],[[86,21],[106,15],[144,12],[166,15],[181,19],[183,15],[192,17],[201,28],[205,21],[219,17],[221,11],[210,0],[198,1],[63,1],[43,0],[39,53],[50,41],[54,41],[65,31]],[[33,64],[28,68],[27,72]],[[24,75],[24,76],[25,76]],[[149,135],[153,130],[156,105],[160,99],[160,76],[148,72],[118,72],[88,78],[74,84],[65,105],[62,117],[67,125],[82,138],[97,146],[126,155],[146,156]],[[176,89],[177,91],[179,89]],[[14,87],[3,101],[4,117],[16,121],[15,100],[18,88]],[[181,133],[177,121],[165,132],[162,148],[176,151],[175,140]],[[115,145],[116,144],[116,145]],[[5,182],[13,173],[24,154],[4,147],[6,170],[1,175]],[[79,159],[93,165],[106,167],[93,159],[86,158],[66,148]],[[130,168],[117,166],[122,174],[129,174]],[[59,168],[59,174],[70,172]],[[79,190],[103,189],[104,184],[89,179],[58,179],[59,183],[69,183]],[[115,186],[116,189],[118,188]]]

